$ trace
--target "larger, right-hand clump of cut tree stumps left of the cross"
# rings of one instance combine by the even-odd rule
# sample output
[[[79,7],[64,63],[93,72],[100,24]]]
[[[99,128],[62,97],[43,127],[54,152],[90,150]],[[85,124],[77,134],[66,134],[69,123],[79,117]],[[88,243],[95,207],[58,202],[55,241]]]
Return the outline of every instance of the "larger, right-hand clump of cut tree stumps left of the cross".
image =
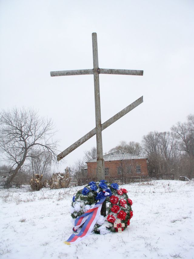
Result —
[[[68,168],[65,169],[65,173],[56,173],[52,175],[51,178],[51,189],[60,189],[60,188],[68,188],[71,181],[71,177],[69,176]]]

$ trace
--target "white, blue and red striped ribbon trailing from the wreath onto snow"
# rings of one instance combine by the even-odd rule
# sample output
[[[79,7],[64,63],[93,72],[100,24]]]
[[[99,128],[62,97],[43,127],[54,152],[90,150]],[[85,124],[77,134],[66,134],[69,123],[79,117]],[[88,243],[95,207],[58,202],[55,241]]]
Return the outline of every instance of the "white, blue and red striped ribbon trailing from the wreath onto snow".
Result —
[[[73,228],[74,231],[76,231],[83,223],[83,227],[79,234],[75,235],[72,234],[67,241],[65,241],[65,244],[74,244],[78,243],[82,239],[84,239],[86,236],[88,236],[96,224],[96,221],[100,215],[100,211],[102,208],[102,203],[105,201],[106,196],[108,196],[109,193],[105,192],[105,197],[97,202],[91,209],[86,211],[84,214],[82,214],[80,217],[77,217],[75,220],[75,227]]]

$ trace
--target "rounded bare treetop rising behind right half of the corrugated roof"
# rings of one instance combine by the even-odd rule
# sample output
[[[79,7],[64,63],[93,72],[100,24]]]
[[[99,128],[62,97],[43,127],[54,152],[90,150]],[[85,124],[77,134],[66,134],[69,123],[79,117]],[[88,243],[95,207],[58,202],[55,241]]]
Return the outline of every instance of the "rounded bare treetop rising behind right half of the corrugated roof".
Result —
[[[135,141],[130,141],[129,143],[127,143],[126,141],[121,141],[120,145],[109,150],[109,152],[112,151],[122,151],[129,154],[140,156],[142,154],[142,146],[139,142]]]

